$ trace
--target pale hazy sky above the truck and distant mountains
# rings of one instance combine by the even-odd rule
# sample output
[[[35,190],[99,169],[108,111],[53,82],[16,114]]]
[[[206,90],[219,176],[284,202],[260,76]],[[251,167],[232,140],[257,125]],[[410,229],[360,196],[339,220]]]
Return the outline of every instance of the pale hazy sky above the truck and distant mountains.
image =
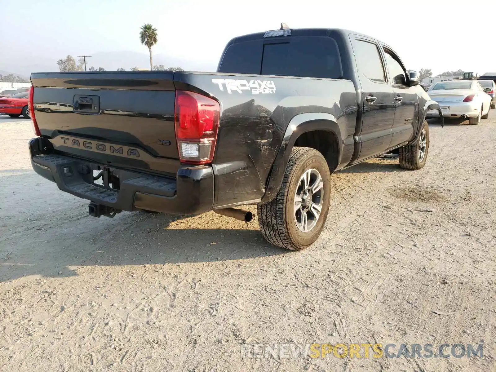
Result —
[[[216,66],[231,38],[285,22],[368,34],[410,69],[496,71],[496,0],[0,0],[0,9],[0,69],[9,55],[55,62],[68,54],[147,53],[138,38],[143,23],[158,30],[154,54]]]

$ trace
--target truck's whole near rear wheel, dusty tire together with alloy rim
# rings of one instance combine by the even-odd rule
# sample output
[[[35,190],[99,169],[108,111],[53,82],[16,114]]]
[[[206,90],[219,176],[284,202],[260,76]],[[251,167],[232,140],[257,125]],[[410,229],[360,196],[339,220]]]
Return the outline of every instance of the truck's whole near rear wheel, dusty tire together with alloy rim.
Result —
[[[279,192],[269,203],[258,205],[263,237],[277,247],[310,247],[324,227],[331,195],[329,167],[320,152],[294,147]]]

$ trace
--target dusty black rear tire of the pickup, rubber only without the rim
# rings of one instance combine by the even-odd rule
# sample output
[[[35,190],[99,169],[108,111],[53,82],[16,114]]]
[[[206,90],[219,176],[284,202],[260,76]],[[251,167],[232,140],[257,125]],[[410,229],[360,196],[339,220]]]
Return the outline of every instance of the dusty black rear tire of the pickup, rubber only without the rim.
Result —
[[[315,226],[305,233],[296,225],[293,205],[300,177],[309,169],[317,170],[322,178],[323,202]],[[270,202],[257,205],[258,224],[265,240],[274,246],[290,250],[310,247],[320,236],[327,219],[331,195],[330,177],[329,167],[320,152],[310,147],[294,147],[279,192]]]

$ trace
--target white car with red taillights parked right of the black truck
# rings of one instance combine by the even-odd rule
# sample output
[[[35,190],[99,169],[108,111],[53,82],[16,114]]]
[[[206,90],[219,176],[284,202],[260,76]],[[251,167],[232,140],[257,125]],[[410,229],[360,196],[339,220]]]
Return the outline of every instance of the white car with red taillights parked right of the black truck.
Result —
[[[491,97],[477,80],[440,81],[427,91],[433,101],[441,106],[445,118],[469,119],[470,124],[479,124],[489,117]],[[428,111],[428,118],[438,117],[436,110]]]

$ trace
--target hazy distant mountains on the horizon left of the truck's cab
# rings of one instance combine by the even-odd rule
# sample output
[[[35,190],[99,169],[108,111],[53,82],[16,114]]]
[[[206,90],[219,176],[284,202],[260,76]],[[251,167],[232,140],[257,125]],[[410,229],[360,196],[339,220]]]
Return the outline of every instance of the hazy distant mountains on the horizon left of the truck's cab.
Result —
[[[132,67],[150,68],[150,59],[148,53],[138,52],[97,52],[90,54],[90,58],[86,59],[86,67],[93,66],[95,68],[103,67],[108,71],[116,70],[123,67],[130,70]],[[7,71],[18,71],[16,75],[21,77],[29,77],[31,72],[52,72],[58,71],[59,66],[57,61],[66,56],[56,56],[54,59],[33,57],[29,60],[16,58],[15,55],[9,58],[8,61],[0,61],[0,73]],[[77,61],[77,56],[72,56]],[[165,67],[182,67],[189,71],[215,71],[217,61],[191,61],[176,57],[157,54],[153,56],[153,64],[163,64]],[[8,73],[5,73],[8,75]]]

